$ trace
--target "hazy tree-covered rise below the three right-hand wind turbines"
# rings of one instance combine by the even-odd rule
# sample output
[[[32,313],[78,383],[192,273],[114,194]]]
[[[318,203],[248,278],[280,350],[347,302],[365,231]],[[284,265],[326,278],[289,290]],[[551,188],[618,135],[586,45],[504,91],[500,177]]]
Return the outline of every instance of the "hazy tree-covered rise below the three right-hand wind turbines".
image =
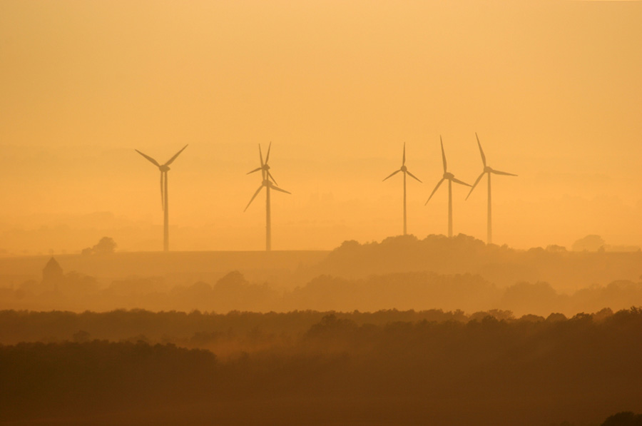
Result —
[[[559,245],[514,250],[507,245],[486,245],[464,234],[454,238],[428,235],[423,240],[404,235],[380,243],[345,241],[314,270],[315,275],[344,278],[409,271],[470,273],[499,287],[520,281],[546,281],[561,290],[574,290],[593,283],[638,278],[641,260],[639,248],[631,253],[574,252]]]

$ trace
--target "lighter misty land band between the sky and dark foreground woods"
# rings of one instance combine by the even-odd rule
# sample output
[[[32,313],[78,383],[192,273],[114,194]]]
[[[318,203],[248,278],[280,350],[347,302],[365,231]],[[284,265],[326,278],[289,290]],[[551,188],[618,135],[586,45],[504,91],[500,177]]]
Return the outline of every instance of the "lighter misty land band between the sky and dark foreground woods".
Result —
[[[52,262],[53,272],[41,272]],[[642,305],[640,252],[513,250],[465,235],[347,241],[330,253],[116,253],[68,256],[60,263],[4,259],[0,265],[0,303],[18,310],[501,309],[574,315]],[[65,273],[63,265],[76,270]]]

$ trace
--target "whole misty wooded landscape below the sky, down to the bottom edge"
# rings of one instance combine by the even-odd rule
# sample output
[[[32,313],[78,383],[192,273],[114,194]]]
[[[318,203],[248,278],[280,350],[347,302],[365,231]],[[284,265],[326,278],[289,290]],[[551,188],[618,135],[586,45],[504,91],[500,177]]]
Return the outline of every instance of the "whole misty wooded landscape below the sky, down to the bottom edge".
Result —
[[[637,425],[641,265],[467,235],[1,258],[0,420]]]

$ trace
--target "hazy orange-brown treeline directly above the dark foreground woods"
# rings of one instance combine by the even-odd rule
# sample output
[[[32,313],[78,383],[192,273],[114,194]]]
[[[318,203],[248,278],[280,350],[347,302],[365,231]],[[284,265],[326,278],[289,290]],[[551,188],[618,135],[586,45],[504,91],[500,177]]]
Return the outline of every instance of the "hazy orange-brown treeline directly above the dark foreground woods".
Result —
[[[66,277],[55,291],[34,295],[25,290],[1,290],[4,308],[31,310],[231,310],[287,312],[291,310],[511,310],[516,315],[619,310],[642,305],[642,282],[614,281],[591,285],[571,294],[549,283],[519,282],[499,288],[480,275],[439,275],[430,272],[387,273],[367,278],[320,275],[293,290],[277,290],[267,283],[250,283],[234,271],[214,285],[198,282],[158,290],[153,278],[118,280],[98,289],[91,280]],[[85,283],[86,285],[83,285]]]

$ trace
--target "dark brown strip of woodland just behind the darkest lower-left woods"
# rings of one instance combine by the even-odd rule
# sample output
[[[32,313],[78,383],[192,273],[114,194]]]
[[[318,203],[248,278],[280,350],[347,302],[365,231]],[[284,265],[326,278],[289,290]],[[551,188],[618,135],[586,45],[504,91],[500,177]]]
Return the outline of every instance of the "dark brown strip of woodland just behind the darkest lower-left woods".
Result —
[[[352,311],[350,313],[295,310],[287,313],[255,313],[232,311],[225,314],[203,313],[193,310],[151,312],[149,310],[113,310],[96,313],[50,311],[0,310],[0,343],[15,344],[23,341],[59,343],[64,340],[143,340],[150,343],[176,343],[190,348],[210,348],[215,340],[249,340],[258,336],[270,339],[295,339],[302,336],[312,325],[319,323],[326,315],[350,320],[357,325],[385,325],[394,322],[416,323],[418,321],[457,321],[467,323],[486,315],[495,318],[514,319],[510,312],[492,310],[466,315],[461,310],[377,312]],[[529,316],[528,318],[534,318]],[[550,318],[565,319],[555,314]],[[544,318],[539,318],[544,320]],[[202,343],[202,344],[201,344]]]

